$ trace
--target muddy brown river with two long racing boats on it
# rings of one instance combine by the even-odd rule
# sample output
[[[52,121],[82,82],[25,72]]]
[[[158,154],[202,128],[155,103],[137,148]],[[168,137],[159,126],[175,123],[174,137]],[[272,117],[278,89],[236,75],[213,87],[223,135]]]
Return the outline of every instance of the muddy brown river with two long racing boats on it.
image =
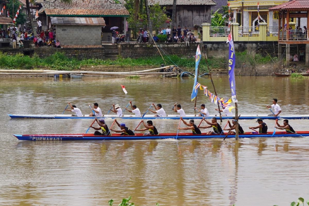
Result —
[[[199,82],[213,92],[209,78]],[[227,76],[215,76],[214,84],[219,97],[230,96]],[[92,120],[6,115],[60,114],[68,101],[83,114],[91,113],[88,103],[97,102],[106,114],[112,103],[124,108],[129,100],[142,113],[151,103],[161,103],[167,114],[175,114],[171,108],[177,102],[192,114],[192,86],[191,78],[1,77],[0,204],[108,205],[114,199],[118,205],[129,195],[132,202],[146,206],[156,202],[162,206],[288,205],[298,197],[309,199],[305,137],[32,142],[19,141],[12,134],[85,132]],[[265,106],[273,98],[278,99],[282,114],[308,114],[309,79],[236,77],[236,87],[239,114],[269,114]],[[197,105],[205,103],[210,114],[216,114],[216,105],[201,90],[197,98]],[[106,122],[110,125],[112,120]],[[176,132],[179,123],[153,122],[159,132]],[[274,121],[265,122],[273,131]],[[135,128],[139,120],[125,123]],[[255,120],[240,120],[240,124],[245,131],[257,125]],[[295,130],[308,130],[309,120],[290,120],[290,124]]]

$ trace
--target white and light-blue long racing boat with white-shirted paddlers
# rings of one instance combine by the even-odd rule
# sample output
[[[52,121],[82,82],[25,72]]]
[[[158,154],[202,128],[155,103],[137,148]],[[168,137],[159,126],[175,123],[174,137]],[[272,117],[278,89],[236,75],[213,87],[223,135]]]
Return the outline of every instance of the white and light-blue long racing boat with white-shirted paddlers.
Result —
[[[197,113],[198,114],[198,113]],[[14,115],[14,114],[8,114],[11,118],[41,118],[41,119],[94,119],[94,116],[89,116],[89,115],[83,115],[83,116],[71,116],[71,115]],[[210,115],[205,117],[205,119],[211,119],[213,117],[219,118],[219,115]],[[232,119],[235,116],[222,116],[222,119]],[[104,118],[104,119],[115,119],[115,118],[122,118],[122,119],[178,119],[179,120],[179,115],[167,115],[166,117],[158,117],[154,115],[145,115],[144,117],[142,116],[132,116],[132,115],[124,115],[121,117],[118,117],[116,115],[104,115],[102,117],[98,118]],[[186,115],[185,117],[182,117],[185,120],[188,119],[203,119],[202,116],[195,116],[195,115]],[[252,114],[252,115],[241,115],[239,117],[240,120],[252,120],[252,119],[269,119],[269,120],[275,120],[277,117],[274,116],[268,116],[267,114]],[[285,116],[280,116],[282,119],[298,119],[298,120],[308,120],[309,119],[309,114],[308,115],[285,115]]]

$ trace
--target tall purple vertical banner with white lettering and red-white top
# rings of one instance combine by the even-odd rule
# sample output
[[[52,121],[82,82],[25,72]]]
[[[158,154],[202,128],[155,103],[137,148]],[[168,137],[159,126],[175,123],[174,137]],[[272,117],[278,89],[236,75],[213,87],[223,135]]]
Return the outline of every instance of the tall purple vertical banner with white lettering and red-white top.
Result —
[[[235,86],[235,49],[234,49],[234,42],[232,38],[232,34],[230,33],[227,37],[226,43],[229,43],[229,81],[231,87],[231,94],[232,94],[232,101],[234,103],[237,102],[236,99],[236,86]]]

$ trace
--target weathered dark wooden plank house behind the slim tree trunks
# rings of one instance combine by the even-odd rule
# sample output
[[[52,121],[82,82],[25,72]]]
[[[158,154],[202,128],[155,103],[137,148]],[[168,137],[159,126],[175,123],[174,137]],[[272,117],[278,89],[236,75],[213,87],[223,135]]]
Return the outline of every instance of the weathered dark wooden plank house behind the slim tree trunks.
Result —
[[[172,15],[173,0],[148,0],[149,5],[159,3],[166,6],[166,11]],[[177,0],[176,25],[181,28],[193,28],[194,24],[201,26],[202,23],[210,23],[211,6],[217,3],[213,0]]]

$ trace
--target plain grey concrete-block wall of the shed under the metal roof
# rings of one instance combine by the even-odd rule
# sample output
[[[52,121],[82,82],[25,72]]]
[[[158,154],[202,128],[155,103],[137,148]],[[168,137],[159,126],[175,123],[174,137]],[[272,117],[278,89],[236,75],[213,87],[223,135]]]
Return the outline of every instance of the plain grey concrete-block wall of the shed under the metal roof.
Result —
[[[101,26],[56,26],[60,45],[101,45]]]

